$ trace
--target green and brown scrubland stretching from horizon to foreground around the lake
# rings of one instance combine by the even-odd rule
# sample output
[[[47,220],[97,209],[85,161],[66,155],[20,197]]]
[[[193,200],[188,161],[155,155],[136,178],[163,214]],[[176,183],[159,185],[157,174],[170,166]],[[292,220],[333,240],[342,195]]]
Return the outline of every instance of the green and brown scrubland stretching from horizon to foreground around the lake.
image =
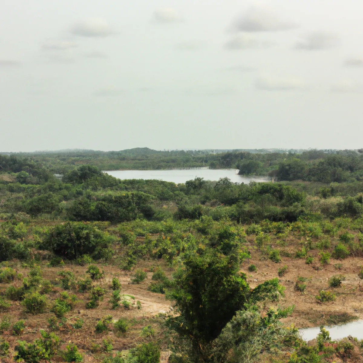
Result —
[[[203,163],[278,182],[176,185],[100,169]],[[356,359],[361,342],[332,342],[325,329],[307,345],[281,322],[294,307],[279,301],[283,277],[301,263],[337,270],[310,293],[315,304],[334,304],[343,286],[344,299],[357,293],[342,269],[363,256],[361,176],[355,151],[0,155],[1,359],[143,363],[159,362],[160,351],[175,363]],[[276,266],[273,276],[251,280],[263,268],[256,261]],[[124,293],[120,276],[133,291],[165,296],[170,313],[145,317],[146,302]],[[292,282],[299,296],[312,285],[309,276]],[[324,322],[354,318],[327,313]]]

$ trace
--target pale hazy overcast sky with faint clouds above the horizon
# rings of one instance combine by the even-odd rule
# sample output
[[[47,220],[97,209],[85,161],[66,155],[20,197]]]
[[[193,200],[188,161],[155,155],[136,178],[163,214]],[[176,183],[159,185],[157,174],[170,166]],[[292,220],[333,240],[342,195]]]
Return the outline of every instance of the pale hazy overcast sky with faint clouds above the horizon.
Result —
[[[363,146],[363,2],[3,0],[0,151]]]

